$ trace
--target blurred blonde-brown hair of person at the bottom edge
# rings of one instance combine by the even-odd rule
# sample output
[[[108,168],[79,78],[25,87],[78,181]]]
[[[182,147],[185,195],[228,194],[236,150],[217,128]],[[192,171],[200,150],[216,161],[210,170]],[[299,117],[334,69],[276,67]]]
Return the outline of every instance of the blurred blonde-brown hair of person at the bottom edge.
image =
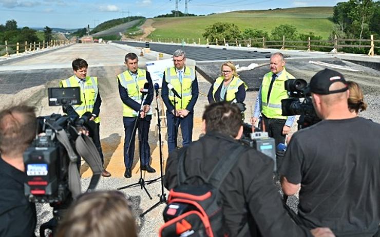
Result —
[[[119,191],[85,193],[65,212],[58,237],[137,237],[128,200]]]

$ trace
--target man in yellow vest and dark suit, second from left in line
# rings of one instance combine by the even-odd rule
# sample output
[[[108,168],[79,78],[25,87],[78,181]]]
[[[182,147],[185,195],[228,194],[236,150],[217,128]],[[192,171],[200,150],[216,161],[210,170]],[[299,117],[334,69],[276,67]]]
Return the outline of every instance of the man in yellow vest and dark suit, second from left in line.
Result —
[[[139,130],[140,136],[140,159],[141,169],[148,173],[155,173],[156,170],[150,166],[150,147],[148,143],[149,126],[151,120],[150,104],[153,101],[153,82],[150,73],[144,69],[138,68],[139,58],[135,53],[125,55],[125,66],[127,70],[117,76],[119,83],[119,95],[123,101],[123,123],[124,123],[124,177],[132,177],[132,163],[135,155],[135,136],[136,130]],[[142,101],[141,89],[148,83],[147,94]],[[138,114],[140,112],[140,117]],[[135,128],[136,119],[138,119]],[[129,150],[128,150],[129,148]]]

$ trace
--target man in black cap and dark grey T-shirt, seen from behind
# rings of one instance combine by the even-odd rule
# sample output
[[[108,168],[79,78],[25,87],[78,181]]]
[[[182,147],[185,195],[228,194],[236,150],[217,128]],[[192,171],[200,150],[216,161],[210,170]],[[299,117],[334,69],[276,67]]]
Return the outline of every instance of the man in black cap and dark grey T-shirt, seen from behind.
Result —
[[[380,125],[357,117],[340,73],[325,69],[310,81],[322,121],[296,132],[279,173],[283,192],[299,191],[305,226],[327,226],[337,236],[374,236],[380,222]]]

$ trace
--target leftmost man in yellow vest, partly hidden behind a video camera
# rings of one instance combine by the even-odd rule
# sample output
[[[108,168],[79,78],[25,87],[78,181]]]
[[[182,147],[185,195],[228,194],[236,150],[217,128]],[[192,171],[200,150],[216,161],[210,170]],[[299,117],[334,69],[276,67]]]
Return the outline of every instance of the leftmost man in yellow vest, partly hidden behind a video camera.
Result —
[[[102,99],[100,98],[98,78],[87,76],[88,64],[82,58],[77,58],[72,61],[72,70],[74,75],[61,80],[60,87],[79,87],[81,90],[81,104],[79,105],[65,105],[63,106],[64,112],[69,116],[82,117],[86,112],[90,112],[95,125],[90,129],[90,137],[98,149],[102,164],[104,165],[104,156],[102,146],[100,144],[100,105]],[[92,122],[90,122],[92,123]],[[81,160],[79,159],[78,166],[80,167]],[[102,172],[103,177],[110,177],[111,174],[104,168]]]

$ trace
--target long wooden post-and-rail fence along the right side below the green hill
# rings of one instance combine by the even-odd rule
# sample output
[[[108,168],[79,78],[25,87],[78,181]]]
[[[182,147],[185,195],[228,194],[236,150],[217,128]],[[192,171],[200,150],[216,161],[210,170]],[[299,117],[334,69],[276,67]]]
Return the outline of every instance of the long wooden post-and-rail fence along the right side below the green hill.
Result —
[[[140,39],[140,41],[143,41]],[[153,38],[150,42],[165,42],[165,43],[177,43],[182,45],[216,45],[216,46],[237,46],[237,47],[256,47],[256,48],[278,48],[278,49],[300,49],[307,51],[331,51],[337,52],[352,52],[350,48],[361,49],[359,51],[365,51],[369,56],[374,56],[375,53],[380,52],[380,40],[375,40],[371,35],[370,39],[345,39],[338,38],[337,35],[331,40],[288,40],[285,36],[282,36],[282,40],[267,40],[262,38],[249,38],[227,41],[223,39],[214,39],[213,41],[201,38]]]

